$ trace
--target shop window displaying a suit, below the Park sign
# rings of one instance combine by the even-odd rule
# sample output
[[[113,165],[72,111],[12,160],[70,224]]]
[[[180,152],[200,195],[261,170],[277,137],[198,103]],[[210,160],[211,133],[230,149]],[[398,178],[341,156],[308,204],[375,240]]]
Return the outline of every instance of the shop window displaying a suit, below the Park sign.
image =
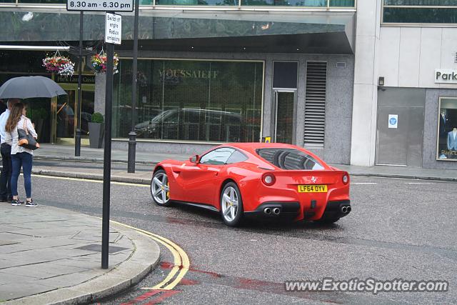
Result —
[[[438,160],[457,161],[457,98],[440,98]]]

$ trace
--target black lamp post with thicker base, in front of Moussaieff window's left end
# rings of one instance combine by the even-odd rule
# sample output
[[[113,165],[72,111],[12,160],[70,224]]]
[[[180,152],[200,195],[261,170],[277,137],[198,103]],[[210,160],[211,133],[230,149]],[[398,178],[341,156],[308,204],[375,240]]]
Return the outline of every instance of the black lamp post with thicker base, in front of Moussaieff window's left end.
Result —
[[[135,172],[136,159],[136,132],[135,132],[135,114],[136,114],[136,71],[138,67],[138,19],[139,19],[139,0],[135,0],[135,17],[134,17],[134,61],[132,63],[131,77],[131,131],[129,132],[129,157],[127,160],[127,172]]]

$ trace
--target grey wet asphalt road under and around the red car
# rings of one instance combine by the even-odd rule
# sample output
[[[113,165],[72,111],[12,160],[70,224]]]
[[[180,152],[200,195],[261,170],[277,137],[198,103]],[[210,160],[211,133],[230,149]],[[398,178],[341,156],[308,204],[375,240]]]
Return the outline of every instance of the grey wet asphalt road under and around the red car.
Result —
[[[101,216],[102,184],[34,176],[38,204]],[[352,177],[353,211],[331,226],[249,223],[226,227],[218,214],[191,206],[156,206],[149,188],[111,185],[111,219],[179,244],[191,269],[173,292],[148,294],[169,273],[173,257],[137,286],[102,304],[455,304],[457,184]],[[23,191],[20,189],[20,192]],[[39,208],[38,208],[39,209]],[[332,277],[441,279],[449,291],[286,292],[284,281]],[[142,289],[146,288],[146,289]]]

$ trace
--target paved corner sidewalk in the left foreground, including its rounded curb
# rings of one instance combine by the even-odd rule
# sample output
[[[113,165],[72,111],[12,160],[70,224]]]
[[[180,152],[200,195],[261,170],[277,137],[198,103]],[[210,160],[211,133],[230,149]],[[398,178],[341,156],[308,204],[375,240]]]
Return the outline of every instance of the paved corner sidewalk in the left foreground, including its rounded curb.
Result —
[[[159,262],[155,241],[111,224],[109,269],[101,269],[101,219],[93,216],[5,203],[0,214],[2,304],[94,302],[138,283]]]

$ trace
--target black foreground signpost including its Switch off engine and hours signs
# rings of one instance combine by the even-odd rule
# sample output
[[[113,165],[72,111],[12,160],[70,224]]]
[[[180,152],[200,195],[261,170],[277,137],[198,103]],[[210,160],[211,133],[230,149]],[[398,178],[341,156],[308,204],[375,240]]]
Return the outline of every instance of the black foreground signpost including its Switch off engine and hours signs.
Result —
[[[122,16],[114,11],[133,11],[133,0],[67,0],[67,11],[106,11],[106,96],[105,96],[105,147],[103,166],[103,216],[101,220],[101,268],[108,269],[109,258],[109,205],[111,184],[111,108],[113,104],[114,44],[121,44]]]

